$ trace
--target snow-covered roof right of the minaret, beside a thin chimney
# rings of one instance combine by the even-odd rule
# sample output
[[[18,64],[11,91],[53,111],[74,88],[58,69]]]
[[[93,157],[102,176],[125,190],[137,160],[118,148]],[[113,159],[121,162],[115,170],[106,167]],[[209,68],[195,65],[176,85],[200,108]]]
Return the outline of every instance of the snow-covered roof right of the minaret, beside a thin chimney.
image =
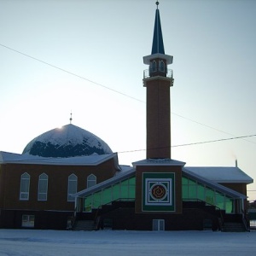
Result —
[[[238,167],[187,167],[189,172],[215,183],[253,183],[253,178],[242,172]]]

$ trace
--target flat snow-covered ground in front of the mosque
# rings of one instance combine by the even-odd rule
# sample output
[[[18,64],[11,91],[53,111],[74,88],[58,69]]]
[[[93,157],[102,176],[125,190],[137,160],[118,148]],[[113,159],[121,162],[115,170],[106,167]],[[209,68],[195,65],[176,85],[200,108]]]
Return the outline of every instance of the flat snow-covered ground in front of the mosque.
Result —
[[[0,255],[255,255],[256,232],[0,230]]]

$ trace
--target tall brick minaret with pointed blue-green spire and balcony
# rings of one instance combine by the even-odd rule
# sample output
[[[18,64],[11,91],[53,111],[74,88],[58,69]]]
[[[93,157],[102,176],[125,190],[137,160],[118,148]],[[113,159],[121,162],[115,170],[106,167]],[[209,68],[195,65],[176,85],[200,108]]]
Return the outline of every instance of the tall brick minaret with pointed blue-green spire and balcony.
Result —
[[[170,87],[173,85],[172,56],[165,54],[160,24],[159,2],[156,2],[154,37],[151,55],[143,57],[149,69],[144,71],[147,88],[147,159],[171,158]]]

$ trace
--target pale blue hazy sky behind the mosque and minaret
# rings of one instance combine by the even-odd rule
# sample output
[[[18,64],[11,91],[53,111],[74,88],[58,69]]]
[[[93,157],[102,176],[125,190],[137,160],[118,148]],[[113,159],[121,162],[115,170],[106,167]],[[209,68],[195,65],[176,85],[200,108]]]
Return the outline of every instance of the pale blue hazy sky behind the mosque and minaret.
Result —
[[[155,9],[153,0],[0,0],[0,150],[21,154],[72,112],[120,164],[145,159],[143,56]],[[256,179],[256,1],[160,0],[159,9],[173,55],[172,159],[237,159]],[[256,200],[256,183],[247,189]]]

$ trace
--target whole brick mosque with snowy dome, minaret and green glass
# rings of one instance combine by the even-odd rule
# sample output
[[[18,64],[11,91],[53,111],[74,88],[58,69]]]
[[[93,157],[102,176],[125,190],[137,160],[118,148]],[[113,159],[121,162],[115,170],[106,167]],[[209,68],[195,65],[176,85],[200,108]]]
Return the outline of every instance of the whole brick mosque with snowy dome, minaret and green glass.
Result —
[[[247,184],[237,166],[189,167],[171,156],[172,55],[156,2],[147,94],[146,159],[118,154],[72,123],[46,131],[22,154],[0,152],[0,228],[53,230],[249,230]]]

